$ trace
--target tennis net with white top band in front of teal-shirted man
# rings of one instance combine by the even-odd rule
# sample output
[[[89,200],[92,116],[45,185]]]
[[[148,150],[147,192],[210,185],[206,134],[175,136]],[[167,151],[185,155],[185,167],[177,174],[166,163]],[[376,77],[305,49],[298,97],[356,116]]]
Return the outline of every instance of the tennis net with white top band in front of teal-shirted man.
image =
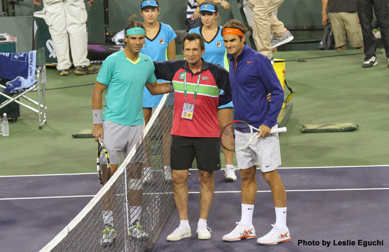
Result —
[[[117,172],[41,252],[143,252],[153,245],[174,202],[173,105],[174,94],[165,94]]]

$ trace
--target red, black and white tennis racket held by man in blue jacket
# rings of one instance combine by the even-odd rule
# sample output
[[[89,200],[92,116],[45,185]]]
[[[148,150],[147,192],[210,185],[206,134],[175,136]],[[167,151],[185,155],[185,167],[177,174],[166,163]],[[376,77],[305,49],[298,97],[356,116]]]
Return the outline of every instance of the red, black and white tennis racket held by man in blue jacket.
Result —
[[[235,120],[223,127],[220,132],[220,142],[226,150],[241,150],[258,138],[257,131],[261,130],[244,121]],[[270,133],[279,132],[286,132],[286,127],[275,128],[270,131]]]

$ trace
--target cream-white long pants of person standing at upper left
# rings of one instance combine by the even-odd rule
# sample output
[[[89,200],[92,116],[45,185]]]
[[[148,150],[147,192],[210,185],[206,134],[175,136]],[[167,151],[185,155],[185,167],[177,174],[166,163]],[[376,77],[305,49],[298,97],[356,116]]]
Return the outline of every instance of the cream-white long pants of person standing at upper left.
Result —
[[[49,26],[53,39],[54,52],[57,56],[57,69],[71,67],[71,57],[74,66],[89,66],[87,19],[83,0],[43,0],[44,20]]]

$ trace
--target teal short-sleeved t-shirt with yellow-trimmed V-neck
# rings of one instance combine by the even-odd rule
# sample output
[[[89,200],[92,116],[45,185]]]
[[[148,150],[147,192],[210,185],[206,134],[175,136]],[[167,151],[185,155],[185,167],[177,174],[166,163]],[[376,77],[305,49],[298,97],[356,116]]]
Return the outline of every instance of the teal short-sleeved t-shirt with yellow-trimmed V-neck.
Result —
[[[149,56],[140,53],[133,62],[123,51],[111,54],[104,60],[97,81],[107,85],[103,120],[127,126],[144,123],[143,88],[157,81]]]

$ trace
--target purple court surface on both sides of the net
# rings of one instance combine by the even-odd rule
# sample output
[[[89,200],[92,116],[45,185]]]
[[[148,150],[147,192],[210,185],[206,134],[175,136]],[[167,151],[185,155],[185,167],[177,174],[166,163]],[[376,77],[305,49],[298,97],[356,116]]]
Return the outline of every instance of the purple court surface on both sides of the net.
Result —
[[[225,182],[215,173],[215,195],[208,216],[210,240],[196,237],[199,217],[198,175],[188,187],[192,237],[177,242],[166,236],[179,224],[176,208],[152,252],[385,252],[389,251],[389,166],[300,167],[278,169],[286,189],[287,226],[292,240],[260,245],[275,222],[269,187],[257,170],[255,239],[225,242],[240,220],[241,180]],[[58,234],[98,192],[96,174],[0,177],[0,251],[37,252]],[[327,247],[328,246],[328,247]]]

